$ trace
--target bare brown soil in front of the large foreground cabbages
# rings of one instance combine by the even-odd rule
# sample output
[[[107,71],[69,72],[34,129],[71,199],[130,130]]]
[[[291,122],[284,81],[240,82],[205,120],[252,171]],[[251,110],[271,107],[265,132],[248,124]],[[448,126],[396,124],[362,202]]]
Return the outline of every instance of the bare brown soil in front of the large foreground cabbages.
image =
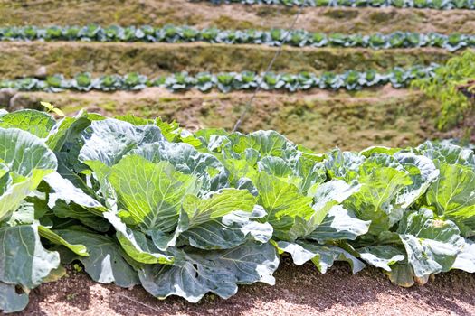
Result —
[[[438,274],[406,289],[373,268],[352,275],[340,264],[320,274],[312,264],[285,258],[275,277],[275,286],[241,286],[228,300],[206,295],[192,304],[176,297],[159,301],[141,287],[94,283],[69,270],[69,277],[33,290],[19,315],[475,315],[473,274]]]

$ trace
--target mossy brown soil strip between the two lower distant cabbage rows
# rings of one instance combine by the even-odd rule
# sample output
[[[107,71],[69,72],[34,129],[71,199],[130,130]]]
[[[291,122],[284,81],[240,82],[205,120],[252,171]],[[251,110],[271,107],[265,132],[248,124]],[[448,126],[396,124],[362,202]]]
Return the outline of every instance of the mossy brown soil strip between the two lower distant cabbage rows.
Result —
[[[277,48],[263,45],[0,42],[0,77],[32,76],[41,66],[49,74],[71,77],[81,71],[93,74],[138,71],[145,75],[176,71],[263,71]],[[351,48],[285,47],[272,70],[299,71],[388,70],[394,66],[443,63],[453,54],[442,49],[375,51]]]

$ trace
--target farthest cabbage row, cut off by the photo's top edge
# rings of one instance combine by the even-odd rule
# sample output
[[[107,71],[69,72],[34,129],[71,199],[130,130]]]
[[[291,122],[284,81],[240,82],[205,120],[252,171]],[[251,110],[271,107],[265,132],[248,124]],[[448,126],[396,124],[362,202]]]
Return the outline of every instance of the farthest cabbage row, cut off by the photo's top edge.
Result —
[[[191,0],[201,2],[202,0]],[[303,5],[303,6],[350,6],[350,7],[387,7],[428,8],[438,10],[475,9],[473,0],[207,0],[215,5],[239,3],[244,5]]]

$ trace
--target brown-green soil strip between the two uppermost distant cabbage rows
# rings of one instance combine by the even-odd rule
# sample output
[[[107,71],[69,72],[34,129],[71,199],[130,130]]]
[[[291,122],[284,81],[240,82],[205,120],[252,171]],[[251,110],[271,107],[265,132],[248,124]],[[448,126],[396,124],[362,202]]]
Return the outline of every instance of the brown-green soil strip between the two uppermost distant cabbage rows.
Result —
[[[164,25],[223,29],[289,27],[297,9],[283,5],[210,5],[187,0],[0,0],[0,25]],[[331,33],[472,33],[475,12],[389,8],[305,8],[297,28]]]

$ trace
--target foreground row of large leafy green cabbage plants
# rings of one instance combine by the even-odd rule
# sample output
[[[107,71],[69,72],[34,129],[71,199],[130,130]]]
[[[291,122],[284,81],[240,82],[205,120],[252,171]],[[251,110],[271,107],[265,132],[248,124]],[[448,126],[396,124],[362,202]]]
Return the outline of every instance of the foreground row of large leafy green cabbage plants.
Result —
[[[284,252],[401,286],[475,273],[475,156],[456,145],[315,153],[275,131],[32,110],[0,111],[0,144],[0,311],[63,265],[189,302],[273,285]]]

